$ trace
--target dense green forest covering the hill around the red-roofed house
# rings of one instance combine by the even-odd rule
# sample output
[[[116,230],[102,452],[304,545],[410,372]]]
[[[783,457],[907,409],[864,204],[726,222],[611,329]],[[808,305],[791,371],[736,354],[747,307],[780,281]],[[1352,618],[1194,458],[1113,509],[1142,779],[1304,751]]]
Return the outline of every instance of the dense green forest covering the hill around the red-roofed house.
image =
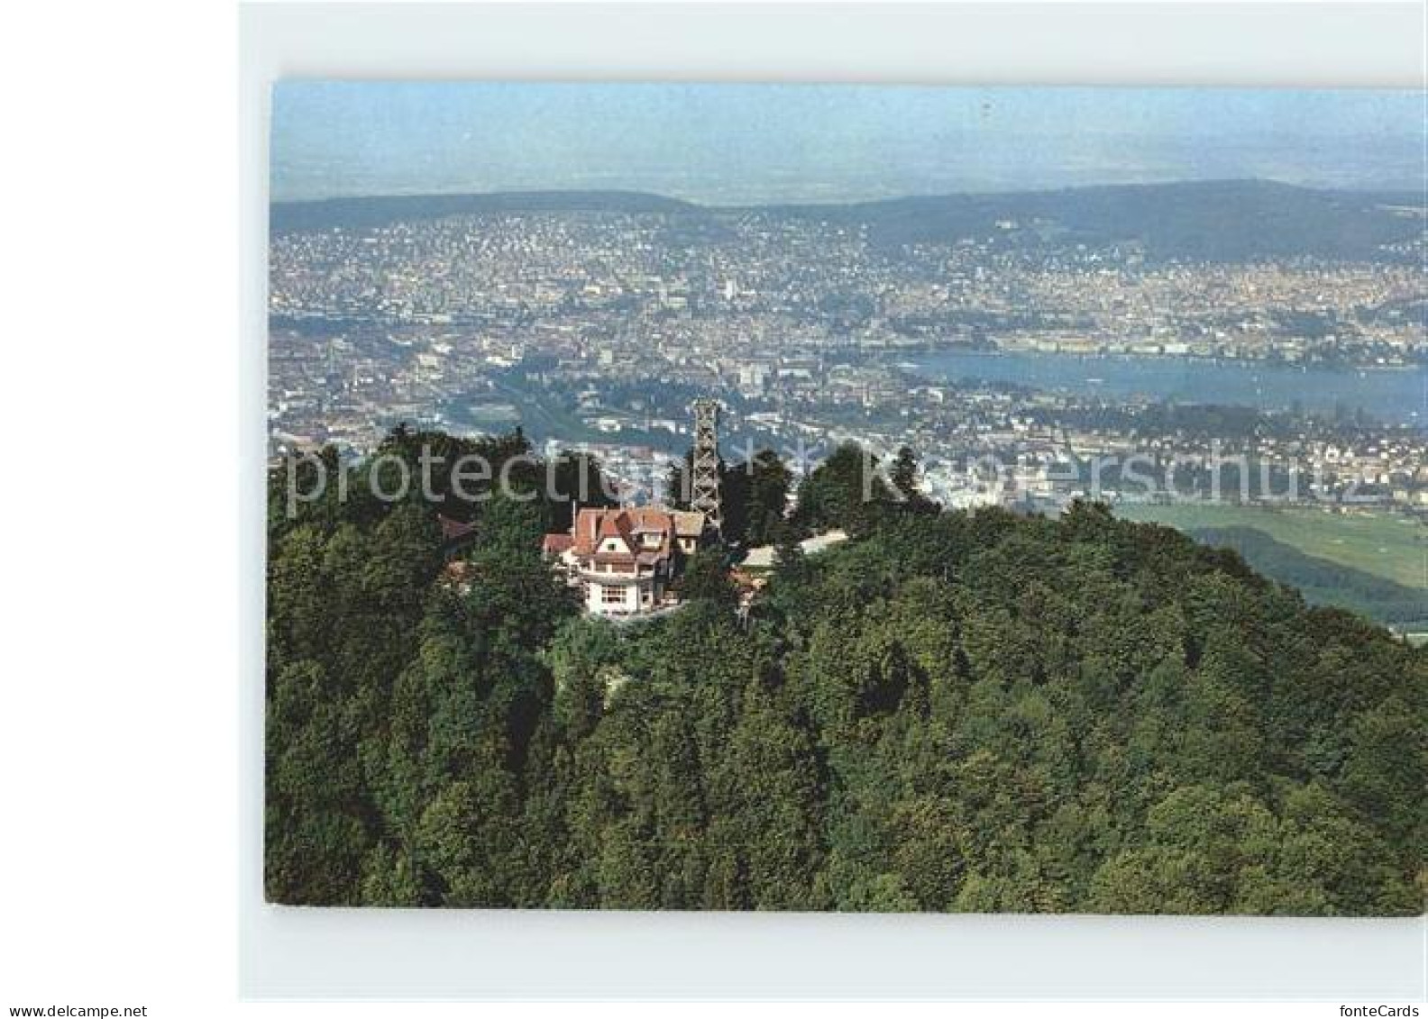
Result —
[[[527,450],[384,452],[423,442]],[[684,608],[624,627],[540,557],[563,500],[384,504],[367,465],[290,519],[276,471],[268,899],[1422,911],[1428,654],[1100,505],[938,512],[894,498],[907,455],[864,504],[858,460],[787,528],[744,511],[780,547],[747,618],[701,552]],[[476,522],[467,588],[437,508]],[[831,525],[853,539],[800,554]]]

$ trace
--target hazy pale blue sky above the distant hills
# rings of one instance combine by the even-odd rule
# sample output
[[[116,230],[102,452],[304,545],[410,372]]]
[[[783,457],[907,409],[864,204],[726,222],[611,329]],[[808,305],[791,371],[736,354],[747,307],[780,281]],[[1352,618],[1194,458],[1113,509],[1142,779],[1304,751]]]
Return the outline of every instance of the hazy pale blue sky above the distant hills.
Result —
[[[624,188],[705,203],[1264,177],[1421,190],[1418,91],[288,81],[273,197]]]

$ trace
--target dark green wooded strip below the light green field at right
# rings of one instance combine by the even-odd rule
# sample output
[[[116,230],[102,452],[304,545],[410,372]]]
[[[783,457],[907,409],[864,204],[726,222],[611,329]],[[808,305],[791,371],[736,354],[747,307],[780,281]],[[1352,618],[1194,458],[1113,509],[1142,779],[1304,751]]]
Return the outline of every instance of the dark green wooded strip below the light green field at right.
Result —
[[[1354,569],[1275,541],[1252,527],[1207,527],[1188,532],[1205,545],[1232,548],[1265,577],[1302,591],[1315,605],[1337,605],[1378,622],[1411,622],[1428,617],[1428,591],[1415,591],[1384,577]]]

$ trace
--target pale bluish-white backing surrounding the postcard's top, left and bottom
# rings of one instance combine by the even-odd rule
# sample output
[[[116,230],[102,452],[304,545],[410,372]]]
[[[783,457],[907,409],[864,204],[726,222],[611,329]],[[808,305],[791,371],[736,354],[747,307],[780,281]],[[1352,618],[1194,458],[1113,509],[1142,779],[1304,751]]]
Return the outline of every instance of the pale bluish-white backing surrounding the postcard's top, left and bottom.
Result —
[[[1425,923],[261,902],[268,87],[278,77],[1422,87],[1418,3],[251,4],[240,14],[246,998],[1417,999]]]

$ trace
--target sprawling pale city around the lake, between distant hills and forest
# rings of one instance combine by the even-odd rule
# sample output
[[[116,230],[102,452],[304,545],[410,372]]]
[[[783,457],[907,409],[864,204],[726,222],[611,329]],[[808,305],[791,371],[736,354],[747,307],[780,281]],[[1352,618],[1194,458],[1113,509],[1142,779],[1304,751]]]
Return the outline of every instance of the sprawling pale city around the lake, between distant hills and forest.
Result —
[[[1035,216],[897,244],[807,208],[528,204],[276,230],[274,450],[360,452],[398,421],[520,424],[597,454],[638,501],[687,448],[690,400],[713,394],[733,460],[768,445],[798,472],[841,441],[911,445],[952,507],[1194,494],[1234,460],[1250,488],[1217,491],[1428,507],[1411,206],[1387,207],[1407,240],[1368,258],[1181,261]],[[938,371],[947,355],[960,371]],[[1032,381],[1002,378],[1007,358]],[[1068,375],[1037,385],[1044,363]],[[1180,391],[1104,387],[1147,367]],[[1197,384],[1207,368],[1252,391]],[[1367,395],[1331,400],[1338,378]],[[1375,395],[1381,380],[1407,400]],[[1131,457],[1164,484],[1131,484]]]

